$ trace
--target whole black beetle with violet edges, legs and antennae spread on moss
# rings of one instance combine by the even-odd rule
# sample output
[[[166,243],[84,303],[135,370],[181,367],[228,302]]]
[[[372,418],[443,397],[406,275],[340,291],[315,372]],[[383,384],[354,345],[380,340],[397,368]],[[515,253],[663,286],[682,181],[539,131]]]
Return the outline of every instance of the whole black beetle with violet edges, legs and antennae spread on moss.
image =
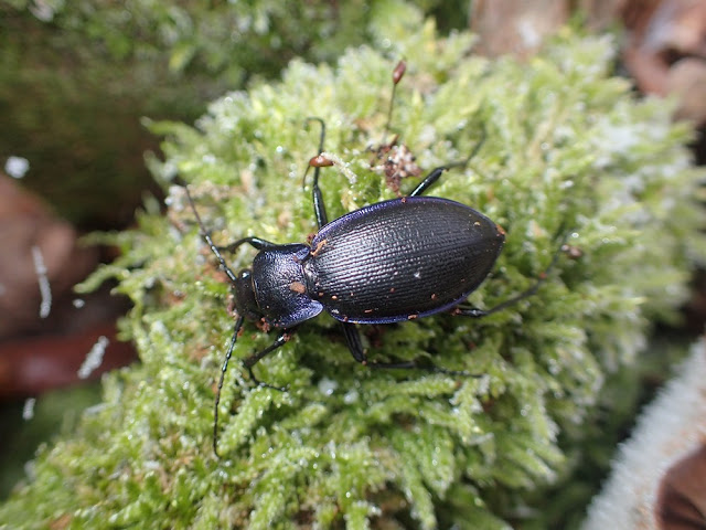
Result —
[[[320,118],[323,152],[325,126]],[[449,199],[422,197],[443,171],[466,166],[480,149],[479,141],[463,162],[432,170],[407,197],[370,204],[328,222],[319,188],[320,168],[333,162],[321,155],[310,160],[314,167],[313,206],[319,233],[310,244],[277,244],[259,237],[244,237],[227,246],[216,246],[205,229],[185,184],[186,197],[201,234],[233,284],[237,318],[223,362],[216,392],[213,451],[217,451],[221,390],[244,319],[261,324],[266,330],[280,328],[275,342],[243,361],[250,379],[260,385],[253,367],[285,344],[295,328],[321,311],[341,322],[351,353],[372,368],[421,368],[414,361],[370,362],[355,324],[391,324],[441,311],[468,317],[496,312],[533,295],[546,272],[527,290],[491,309],[478,309],[463,301],[485,279],[504,243],[504,231],[482,213]],[[306,176],[304,176],[306,177]],[[257,255],[249,269],[236,275],[222,252],[243,244]],[[547,271],[558,257],[555,254]],[[432,371],[453,372],[437,367]],[[279,389],[282,390],[282,389]]]

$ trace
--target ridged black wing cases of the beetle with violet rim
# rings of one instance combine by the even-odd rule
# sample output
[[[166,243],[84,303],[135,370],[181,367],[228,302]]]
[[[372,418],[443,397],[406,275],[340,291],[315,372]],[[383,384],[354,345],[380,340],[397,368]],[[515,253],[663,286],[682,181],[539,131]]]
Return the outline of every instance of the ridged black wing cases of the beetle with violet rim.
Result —
[[[304,261],[309,295],[336,319],[385,324],[453,307],[485,279],[502,230],[448,199],[371,204],[323,226]]]

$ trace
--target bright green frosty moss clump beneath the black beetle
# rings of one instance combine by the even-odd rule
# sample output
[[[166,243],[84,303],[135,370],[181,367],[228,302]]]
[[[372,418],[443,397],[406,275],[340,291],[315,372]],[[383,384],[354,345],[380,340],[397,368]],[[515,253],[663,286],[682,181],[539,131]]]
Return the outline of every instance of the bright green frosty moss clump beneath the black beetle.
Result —
[[[395,197],[371,170],[384,139],[395,59],[392,132],[421,168],[462,160],[435,195],[473,205],[507,232],[502,256],[471,296],[492,307],[527,288],[568,231],[536,296],[491,317],[438,315],[365,327],[371,357],[429,357],[482,378],[371,371],[321,316],[256,367],[287,392],[254,388],[232,363],[222,395],[221,451],[211,451],[214,385],[229,339],[228,285],[204,247],[183,190],[115,237],[125,255],[84,285],[120,279],[135,308],[122,333],[142,364],[113,373],[105,401],[73,438],[38,456],[34,476],[0,509],[17,527],[503,528],[532,513],[527,490],[563,469],[557,436],[580,424],[606,373],[630,363],[652,317],[683,299],[689,259],[704,254],[691,201],[688,130],[663,100],[635,102],[609,77],[609,39],[566,33],[530,64],[488,62],[472,39],[438,40],[432,24],[387,24],[382,54],[361,47],[335,67],[292,63],[282,81],[214,102],[196,127],[167,136],[169,186],[190,182],[217,242],[257,235],[302,242],[315,231],[301,178],[325,150],[329,215]],[[403,189],[414,184],[403,181]],[[234,268],[253,258],[232,257]],[[274,340],[247,327],[234,353]]]

